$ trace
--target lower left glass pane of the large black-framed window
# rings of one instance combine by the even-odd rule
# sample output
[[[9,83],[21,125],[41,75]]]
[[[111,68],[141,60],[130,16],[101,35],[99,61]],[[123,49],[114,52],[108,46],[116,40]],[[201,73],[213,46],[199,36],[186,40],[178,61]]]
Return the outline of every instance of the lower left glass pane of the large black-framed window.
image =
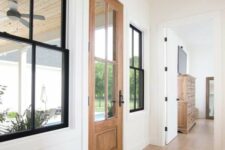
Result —
[[[31,47],[3,39],[0,45],[0,135],[30,130]]]

